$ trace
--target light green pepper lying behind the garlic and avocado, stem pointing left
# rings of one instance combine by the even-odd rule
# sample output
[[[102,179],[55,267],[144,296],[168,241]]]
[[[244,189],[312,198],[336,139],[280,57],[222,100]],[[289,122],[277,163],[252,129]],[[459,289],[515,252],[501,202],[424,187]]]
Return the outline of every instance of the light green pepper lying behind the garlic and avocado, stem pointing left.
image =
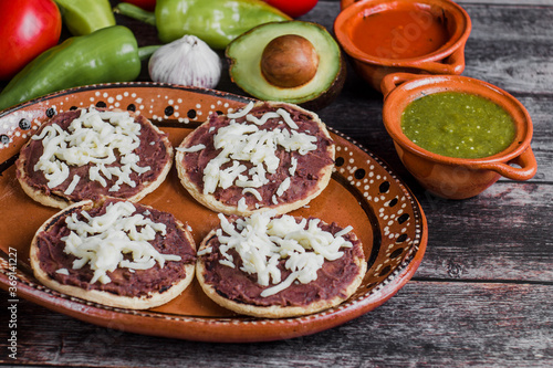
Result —
[[[155,13],[122,2],[115,11],[156,25],[164,43],[191,34],[219,50],[259,24],[291,19],[260,0],[157,0]]]

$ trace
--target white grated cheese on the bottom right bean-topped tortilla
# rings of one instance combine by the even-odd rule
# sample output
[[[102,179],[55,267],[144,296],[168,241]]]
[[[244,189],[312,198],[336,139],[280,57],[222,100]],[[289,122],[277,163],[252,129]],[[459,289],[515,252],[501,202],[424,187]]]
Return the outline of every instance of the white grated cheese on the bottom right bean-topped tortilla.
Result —
[[[262,297],[274,295],[294,282],[307,284],[316,280],[325,260],[337,260],[344,255],[343,248],[353,246],[343,238],[352,227],[333,235],[319,227],[319,219],[302,219],[298,223],[292,215],[274,218],[275,213],[254,213],[234,223],[219,214],[221,228],[217,230],[217,236],[223,257],[219,263],[236,267],[229,254],[231,249],[234,250],[242,261],[241,271],[257,275],[257,282],[262,286],[272,285],[261,293]],[[278,267],[282,259],[286,260],[285,269],[292,272],[285,280],[281,280]]]

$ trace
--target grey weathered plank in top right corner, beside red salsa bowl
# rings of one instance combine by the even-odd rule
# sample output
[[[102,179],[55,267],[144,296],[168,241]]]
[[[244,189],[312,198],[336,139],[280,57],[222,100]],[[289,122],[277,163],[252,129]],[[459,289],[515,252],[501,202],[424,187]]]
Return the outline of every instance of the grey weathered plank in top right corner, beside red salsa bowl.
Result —
[[[513,94],[551,94],[553,7],[467,6],[473,28],[466,75]]]

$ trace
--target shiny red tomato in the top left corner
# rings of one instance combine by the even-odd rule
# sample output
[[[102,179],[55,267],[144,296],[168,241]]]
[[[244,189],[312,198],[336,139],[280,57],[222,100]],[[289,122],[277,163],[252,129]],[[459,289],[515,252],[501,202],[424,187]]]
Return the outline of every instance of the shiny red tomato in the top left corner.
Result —
[[[0,80],[7,81],[60,40],[62,18],[52,0],[0,1]]]

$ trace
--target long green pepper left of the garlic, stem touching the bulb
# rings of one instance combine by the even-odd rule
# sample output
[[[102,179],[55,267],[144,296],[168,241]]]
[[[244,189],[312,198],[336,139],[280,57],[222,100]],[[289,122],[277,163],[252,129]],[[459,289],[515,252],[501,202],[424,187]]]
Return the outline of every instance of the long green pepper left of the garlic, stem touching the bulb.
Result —
[[[0,93],[0,111],[71,87],[134,81],[142,60],[157,48],[138,49],[133,32],[123,25],[72,36],[36,56],[8,83]]]

